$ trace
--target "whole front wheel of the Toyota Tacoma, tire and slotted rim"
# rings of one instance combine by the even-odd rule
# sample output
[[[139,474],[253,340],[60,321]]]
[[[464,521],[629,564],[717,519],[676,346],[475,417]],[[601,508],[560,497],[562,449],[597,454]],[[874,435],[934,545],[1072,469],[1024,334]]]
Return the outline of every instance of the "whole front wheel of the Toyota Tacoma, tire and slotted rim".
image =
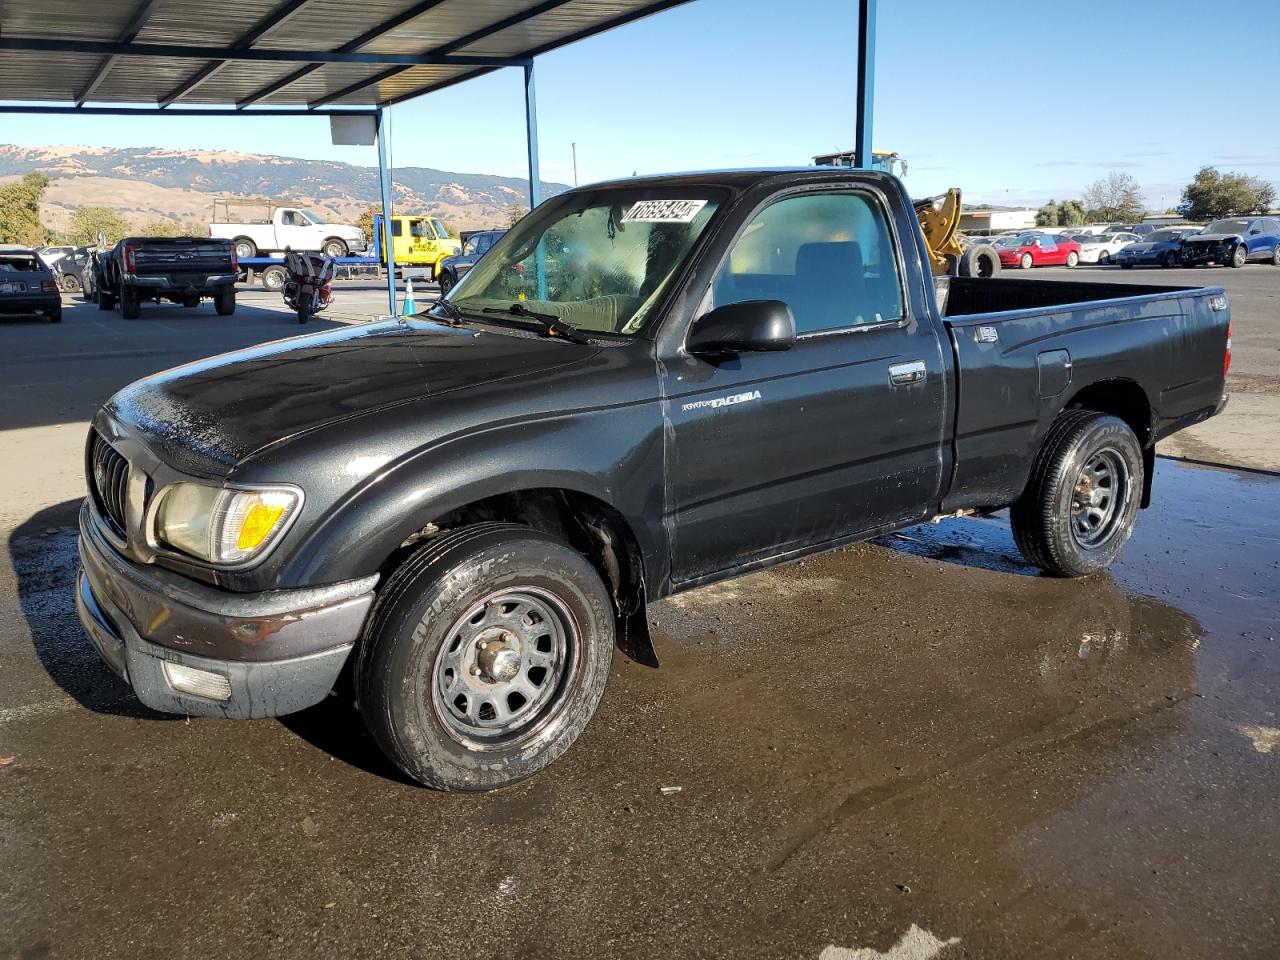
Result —
[[[577,740],[613,635],[609,594],[580,553],[515,524],[462,527],[380,591],[355,666],[360,712],[413,780],[504,787]]]

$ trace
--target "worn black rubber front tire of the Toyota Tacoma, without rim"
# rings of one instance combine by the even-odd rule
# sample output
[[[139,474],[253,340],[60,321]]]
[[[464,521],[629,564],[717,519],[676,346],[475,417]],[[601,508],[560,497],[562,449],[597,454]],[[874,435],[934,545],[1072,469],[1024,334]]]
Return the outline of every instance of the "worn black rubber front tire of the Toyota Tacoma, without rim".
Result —
[[[564,635],[572,632],[575,640],[566,643],[554,690],[548,687],[549,699],[531,716],[531,726],[506,739],[468,741],[457,719],[449,719],[436,675],[443,684],[447,657],[474,649],[462,634],[479,616],[488,622],[493,604],[481,602],[521,590],[553,598]],[[479,614],[466,617],[476,609]],[[406,774],[438,790],[494,790],[531,777],[573,744],[604,694],[613,640],[608,591],[585,557],[531,527],[477,524],[429,541],[379,591],[356,655],[356,698],[374,739]],[[460,644],[463,654],[454,653]],[[489,682],[484,675],[463,678],[465,685],[453,680],[449,687],[462,698]],[[552,672],[543,682],[553,682]],[[488,704],[483,698],[477,703],[483,717]]]

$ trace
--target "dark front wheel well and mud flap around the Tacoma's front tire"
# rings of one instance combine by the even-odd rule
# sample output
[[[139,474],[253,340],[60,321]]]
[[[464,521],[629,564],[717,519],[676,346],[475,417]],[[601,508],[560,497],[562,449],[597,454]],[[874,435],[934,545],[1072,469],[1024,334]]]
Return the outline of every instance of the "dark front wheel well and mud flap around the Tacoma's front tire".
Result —
[[[627,521],[612,506],[577,490],[513,490],[435,517],[407,538],[383,563],[387,576],[422,540],[445,530],[486,521],[524,524],[579,550],[596,568],[613,598],[618,648],[637,663],[658,666],[645,617],[644,557]]]

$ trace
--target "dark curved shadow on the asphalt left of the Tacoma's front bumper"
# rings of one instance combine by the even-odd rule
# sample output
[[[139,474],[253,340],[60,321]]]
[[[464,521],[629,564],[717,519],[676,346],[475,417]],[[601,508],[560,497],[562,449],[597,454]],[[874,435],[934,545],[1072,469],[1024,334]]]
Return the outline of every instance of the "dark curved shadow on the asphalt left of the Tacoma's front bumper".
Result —
[[[178,719],[143,707],[102,663],[81,627],[76,616],[79,506],[77,499],[47,507],[9,535],[18,605],[36,657],[49,677],[86,709],[118,717]]]

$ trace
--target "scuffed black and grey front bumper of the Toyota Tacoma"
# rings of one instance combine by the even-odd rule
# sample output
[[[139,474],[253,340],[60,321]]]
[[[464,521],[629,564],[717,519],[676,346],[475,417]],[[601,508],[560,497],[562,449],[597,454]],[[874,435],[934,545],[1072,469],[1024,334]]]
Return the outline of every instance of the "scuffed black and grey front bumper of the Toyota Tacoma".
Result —
[[[378,577],[233,594],[120,557],[81,509],[76,609],[106,664],[147,707],[189,716],[278,717],[325,698],[374,600]],[[174,687],[165,663],[216,675],[225,699]]]

